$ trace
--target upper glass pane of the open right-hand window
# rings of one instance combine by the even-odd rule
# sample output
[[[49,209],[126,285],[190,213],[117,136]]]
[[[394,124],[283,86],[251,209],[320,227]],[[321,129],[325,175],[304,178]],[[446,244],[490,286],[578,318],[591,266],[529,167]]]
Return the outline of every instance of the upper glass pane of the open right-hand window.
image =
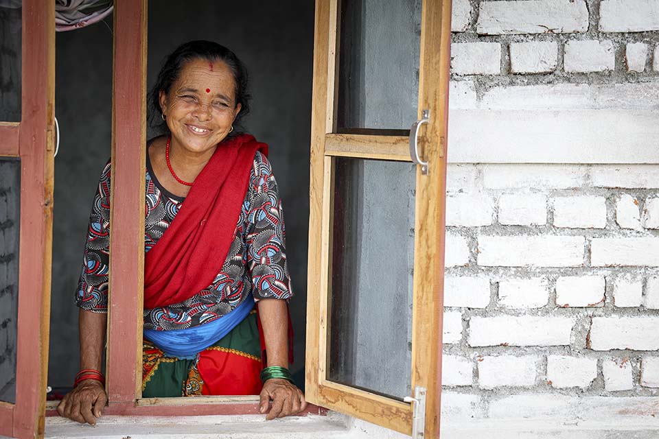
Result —
[[[343,0],[338,131],[417,120],[421,0]]]

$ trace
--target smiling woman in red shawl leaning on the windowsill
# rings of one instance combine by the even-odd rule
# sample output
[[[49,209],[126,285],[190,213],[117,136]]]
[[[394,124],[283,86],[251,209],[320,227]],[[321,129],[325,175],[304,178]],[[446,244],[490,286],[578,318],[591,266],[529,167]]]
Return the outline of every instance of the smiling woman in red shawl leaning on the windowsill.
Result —
[[[277,183],[267,145],[235,130],[249,110],[244,66],[216,43],[185,43],[150,101],[165,135],[147,149],[142,394],[260,394],[262,413],[273,400],[268,419],[300,412],[304,396],[288,372],[292,291]],[[91,425],[107,401],[110,178],[108,163],[76,296],[80,372],[58,405]]]

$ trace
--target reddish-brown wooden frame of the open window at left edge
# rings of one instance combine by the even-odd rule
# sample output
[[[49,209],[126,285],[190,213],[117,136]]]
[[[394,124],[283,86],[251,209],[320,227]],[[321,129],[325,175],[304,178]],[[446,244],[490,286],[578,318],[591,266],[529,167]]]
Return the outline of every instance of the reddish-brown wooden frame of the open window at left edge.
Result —
[[[55,3],[23,0],[21,15],[21,121],[0,122],[0,156],[21,159],[16,403],[0,401],[0,435],[27,438],[43,436],[48,375]]]

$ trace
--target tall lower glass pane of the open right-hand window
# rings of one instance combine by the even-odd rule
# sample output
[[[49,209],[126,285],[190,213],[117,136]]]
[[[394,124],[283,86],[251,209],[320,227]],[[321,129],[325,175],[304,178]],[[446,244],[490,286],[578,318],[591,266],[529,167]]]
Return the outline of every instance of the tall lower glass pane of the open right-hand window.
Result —
[[[415,166],[336,158],[329,379],[410,394]]]

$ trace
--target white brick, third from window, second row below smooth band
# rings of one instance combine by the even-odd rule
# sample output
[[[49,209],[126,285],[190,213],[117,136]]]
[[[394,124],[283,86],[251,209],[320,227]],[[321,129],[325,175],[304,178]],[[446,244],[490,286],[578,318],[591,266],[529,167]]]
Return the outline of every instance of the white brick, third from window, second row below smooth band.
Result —
[[[605,228],[606,199],[595,195],[576,195],[552,199],[554,226],[566,228]]]

